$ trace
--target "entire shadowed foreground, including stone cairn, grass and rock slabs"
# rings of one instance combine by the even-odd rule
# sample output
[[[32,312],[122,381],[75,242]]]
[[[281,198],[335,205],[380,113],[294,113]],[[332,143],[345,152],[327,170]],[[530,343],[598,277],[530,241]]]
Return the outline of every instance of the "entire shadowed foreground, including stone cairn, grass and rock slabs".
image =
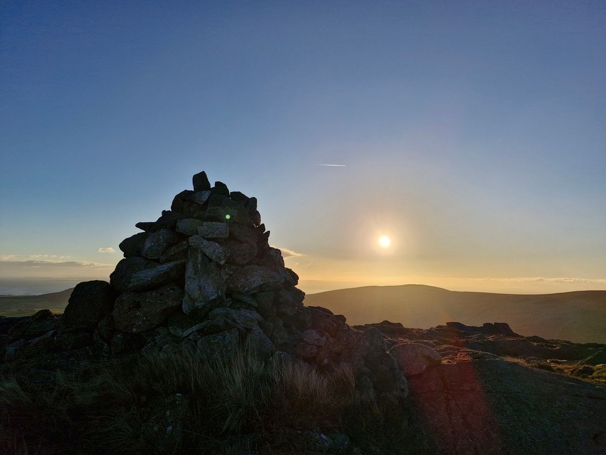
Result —
[[[351,327],[302,304],[255,198],[204,172],[193,187],[122,241],[110,283],[79,283],[62,315],[0,319],[0,450],[605,447],[603,345],[525,339],[504,323]],[[594,383],[528,366],[554,369],[554,358]]]

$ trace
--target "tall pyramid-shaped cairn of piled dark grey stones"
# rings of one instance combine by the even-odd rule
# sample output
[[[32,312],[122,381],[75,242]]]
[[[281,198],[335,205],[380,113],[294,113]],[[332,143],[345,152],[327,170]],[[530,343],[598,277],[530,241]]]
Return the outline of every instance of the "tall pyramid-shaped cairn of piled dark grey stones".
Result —
[[[256,198],[219,181],[211,187],[200,172],[170,211],[136,227],[143,232],[120,243],[124,259],[110,283],[74,289],[56,334],[59,349],[92,345],[121,356],[190,348],[229,356],[247,345],[320,369],[346,362],[362,393],[407,396],[378,329],[358,331],[342,315],[303,305],[299,277],[269,245]]]

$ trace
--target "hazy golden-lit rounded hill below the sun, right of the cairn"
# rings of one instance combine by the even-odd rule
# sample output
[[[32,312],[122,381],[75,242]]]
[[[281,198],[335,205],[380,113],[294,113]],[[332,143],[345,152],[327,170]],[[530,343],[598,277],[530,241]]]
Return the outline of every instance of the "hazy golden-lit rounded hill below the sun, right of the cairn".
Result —
[[[343,314],[351,325],[384,319],[413,328],[448,321],[467,325],[507,322],[525,336],[606,343],[606,291],[525,295],[458,292],[424,285],[365,286],[310,294],[304,303]]]

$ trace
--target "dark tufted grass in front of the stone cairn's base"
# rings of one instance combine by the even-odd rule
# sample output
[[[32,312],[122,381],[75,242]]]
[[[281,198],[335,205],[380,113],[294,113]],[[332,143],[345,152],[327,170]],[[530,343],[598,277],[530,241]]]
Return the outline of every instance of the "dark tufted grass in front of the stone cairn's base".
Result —
[[[145,425],[151,403],[182,394],[177,436]],[[416,419],[355,391],[350,368],[322,374],[242,351],[225,360],[192,352],[135,356],[0,383],[1,453],[301,453],[297,430],[347,434],[374,453],[429,451]]]

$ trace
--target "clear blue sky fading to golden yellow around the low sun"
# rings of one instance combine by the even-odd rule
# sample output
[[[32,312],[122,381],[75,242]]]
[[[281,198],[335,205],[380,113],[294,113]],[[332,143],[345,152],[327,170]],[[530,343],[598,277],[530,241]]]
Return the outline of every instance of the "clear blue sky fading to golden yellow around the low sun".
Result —
[[[205,170],[308,292],[606,289],[603,1],[0,11],[4,277],[107,278]]]

